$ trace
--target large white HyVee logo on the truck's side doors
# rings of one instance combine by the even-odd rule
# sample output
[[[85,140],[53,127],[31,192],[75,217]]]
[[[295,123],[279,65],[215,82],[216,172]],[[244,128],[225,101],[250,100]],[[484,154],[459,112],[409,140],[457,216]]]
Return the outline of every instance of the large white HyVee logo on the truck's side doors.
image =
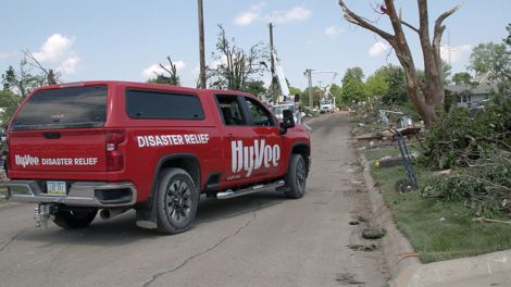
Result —
[[[233,173],[239,173],[241,170],[247,172],[247,177],[253,171],[271,165],[277,166],[281,160],[281,147],[278,145],[267,146],[264,139],[254,139],[252,146],[244,147],[241,140],[230,141],[233,153]]]

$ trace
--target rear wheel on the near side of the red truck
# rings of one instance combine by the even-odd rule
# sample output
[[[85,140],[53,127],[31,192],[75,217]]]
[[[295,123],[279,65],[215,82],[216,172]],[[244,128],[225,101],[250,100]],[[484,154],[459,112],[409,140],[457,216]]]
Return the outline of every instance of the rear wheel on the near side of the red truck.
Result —
[[[178,234],[191,226],[197,213],[199,192],[185,170],[167,169],[162,172],[157,199],[160,233]]]

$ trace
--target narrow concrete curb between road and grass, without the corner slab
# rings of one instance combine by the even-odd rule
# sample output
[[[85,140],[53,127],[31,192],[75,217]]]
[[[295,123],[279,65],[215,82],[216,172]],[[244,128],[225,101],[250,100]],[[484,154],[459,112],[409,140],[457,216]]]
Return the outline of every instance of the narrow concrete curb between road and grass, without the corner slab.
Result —
[[[363,154],[360,154],[360,159],[364,167],[363,175],[374,219],[376,224],[387,230],[387,234],[382,238],[382,242],[390,276],[394,279],[400,277],[401,274],[414,273],[413,270],[419,269],[421,263],[416,257],[402,257],[402,254],[414,252],[413,248],[394,223],[392,214],[385,204],[383,196],[370,174],[367,160]],[[394,285],[390,284],[390,286]]]

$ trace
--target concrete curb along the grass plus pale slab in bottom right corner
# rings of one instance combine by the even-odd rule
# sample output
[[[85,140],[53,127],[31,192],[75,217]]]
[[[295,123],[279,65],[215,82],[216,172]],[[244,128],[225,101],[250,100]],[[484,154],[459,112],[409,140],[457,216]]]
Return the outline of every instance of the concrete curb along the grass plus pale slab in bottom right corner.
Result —
[[[383,251],[391,276],[390,287],[510,286],[511,250],[428,264],[421,264],[416,257],[403,257],[414,252],[412,246],[394,223],[370,174],[367,160],[363,154],[360,158],[375,222],[387,230]]]

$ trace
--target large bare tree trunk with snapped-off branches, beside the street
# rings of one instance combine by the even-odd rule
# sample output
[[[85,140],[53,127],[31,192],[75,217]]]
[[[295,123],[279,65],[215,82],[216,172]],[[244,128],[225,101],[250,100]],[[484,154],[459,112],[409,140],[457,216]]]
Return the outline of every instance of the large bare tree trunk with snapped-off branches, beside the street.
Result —
[[[415,107],[417,113],[424,120],[426,127],[429,127],[437,121],[435,108],[444,102],[444,77],[443,62],[440,58],[441,36],[446,27],[443,22],[452,15],[460,5],[457,5],[444,12],[435,21],[433,40],[429,36],[429,20],[427,10],[427,0],[417,0],[419,5],[419,27],[415,27],[402,20],[400,11],[396,10],[394,0],[384,0],[379,5],[382,14],[386,15],[392,26],[394,34],[387,33],[366,21],[364,17],[352,12],[345,3],[339,0],[345,18],[362,28],[371,30],[384,38],[395,50],[399,63],[404,70],[407,77],[407,89],[410,101]],[[416,33],[420,39],[422,54],[424,58],[425,79],[421,82],[417,77],[417,70],[413,61],[410,47],[404,36],[403,26]]]

